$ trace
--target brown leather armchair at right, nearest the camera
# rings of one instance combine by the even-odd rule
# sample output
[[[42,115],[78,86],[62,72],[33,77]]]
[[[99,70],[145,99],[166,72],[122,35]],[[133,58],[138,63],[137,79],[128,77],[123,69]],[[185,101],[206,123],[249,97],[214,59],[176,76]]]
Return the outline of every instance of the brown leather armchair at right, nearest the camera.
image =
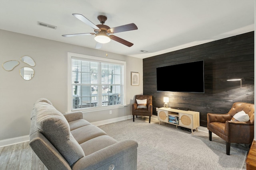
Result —
[[[236,113],[242,110],[249,115],[249,121],[230,121]],[[207,113],[207,128],[210,141],[212,141],[212,132],[226,141],[227,155],[230,154],[230,143],[252,144],[254,139],[254,104],[236,102],[226,114]]]

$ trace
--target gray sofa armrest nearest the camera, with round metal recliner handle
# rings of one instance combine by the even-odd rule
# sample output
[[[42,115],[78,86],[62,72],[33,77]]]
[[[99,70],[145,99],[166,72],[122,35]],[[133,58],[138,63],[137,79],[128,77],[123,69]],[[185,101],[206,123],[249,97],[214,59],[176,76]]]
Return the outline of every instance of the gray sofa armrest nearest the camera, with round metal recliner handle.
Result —
[[[72,170],[108,169],[110,164],[114,164],[115,169],[136,170],[137,147],[138,143],[135,140],[120,141],[80,158],[72,165]]]

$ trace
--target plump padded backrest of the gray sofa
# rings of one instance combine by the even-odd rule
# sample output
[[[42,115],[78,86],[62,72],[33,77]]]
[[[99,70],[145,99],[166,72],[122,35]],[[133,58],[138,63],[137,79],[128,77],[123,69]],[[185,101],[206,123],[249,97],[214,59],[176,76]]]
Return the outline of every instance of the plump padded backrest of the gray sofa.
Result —
[[[54,106],[45,101],[36,102],[36,127],[56,147],[67,162],[84,157],[84,151],[70,133],[68,121]]]

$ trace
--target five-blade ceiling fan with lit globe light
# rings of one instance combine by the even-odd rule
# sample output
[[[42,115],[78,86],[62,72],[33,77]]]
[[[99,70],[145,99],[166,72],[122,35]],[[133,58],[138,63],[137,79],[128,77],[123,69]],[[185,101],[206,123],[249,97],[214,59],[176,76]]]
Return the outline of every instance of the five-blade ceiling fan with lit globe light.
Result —
[[[102,44],[108,43],[110,39],[117,41],[118,43],[121,43],[123,45],[126,45],[128,47],[132,47],[133,43],[130,43],[129,41],[116,37],[115,35],[112,35],[112,34],[138,29],[138,27],[134,23],[110,28],[108,25],[104,25],[105,21],[107,20],[106,16],[102,16],[102,15],[98,16],[98,20],[100,21],[101,24],[94,25],[94,23],[92,23],[90,20],[88,20],[81,14],[72,14],[72,15],[75,16],[78,20],[81,20],[87,25],[89,25],[90,27],[92,27],[95,33],[68,34],[68,35],[62,35],[63,37],[73,37],[77,35],[95,35],[94,39],[98,42],[96,43],[96,49],[100,49],[102,47]]]

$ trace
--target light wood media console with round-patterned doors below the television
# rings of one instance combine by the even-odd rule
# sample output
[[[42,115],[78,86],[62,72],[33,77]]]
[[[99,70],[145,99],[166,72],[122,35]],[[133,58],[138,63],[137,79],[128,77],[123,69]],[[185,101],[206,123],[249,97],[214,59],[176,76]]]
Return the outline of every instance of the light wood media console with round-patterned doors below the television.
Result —
[[[191,129],[191,133],[193,134],[193,130],[200,126],[199,123],[199,112],[198,111],[190,111],[190,110],[180,110],[180,109],[172,109],[169,107],[161,107],[158,108],[158,120],[159,125],[161,121],[165,123],[170,123],[172,125],[176,125],[176,127],[186,127]]]

